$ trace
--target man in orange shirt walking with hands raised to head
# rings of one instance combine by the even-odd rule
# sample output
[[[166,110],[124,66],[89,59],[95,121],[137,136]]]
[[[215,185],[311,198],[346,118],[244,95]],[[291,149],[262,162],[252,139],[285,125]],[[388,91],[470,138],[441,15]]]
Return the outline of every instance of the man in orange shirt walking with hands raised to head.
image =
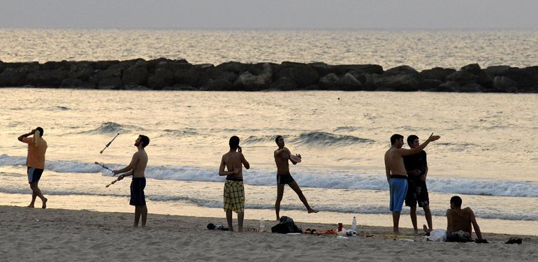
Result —
[[[34,135],[34,137],[28,138],[31,135]],[[31,189],[31,202],[30,205],[28,205],[28,208],[34,208],[34,203],[36,202],[37,197],[41,198],[41,202],[43,202],[41,208],[47,208],[48,199],[41,194],[41,189],[38,187],[41,174],[43,174],[43,169],[45,169],[45,152],[47,152],[47,141],[45,141],[42,136],[43,129],[38,127],[17,138],[20,142],[28,144],[26,166],[28,182],[30,183]]]

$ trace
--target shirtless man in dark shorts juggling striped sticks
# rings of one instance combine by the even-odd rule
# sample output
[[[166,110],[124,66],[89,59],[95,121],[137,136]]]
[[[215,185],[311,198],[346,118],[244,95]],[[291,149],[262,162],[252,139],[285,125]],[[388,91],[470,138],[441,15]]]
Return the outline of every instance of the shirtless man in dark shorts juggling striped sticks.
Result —
[[[114,175],[124,173],[122,175],[119,175],[119,177],[117,178],[118,181],[122,180],[124,177],[128,177],[129,175],[133,176],[133,180],[131,181],[131,201],[129,201],[129,205],[135,206],[135,221],[133,225],[134,227],[138,227],[138,221],[140,219],[140,216],[142,216],[142,227],[144,228],[146,226],[147,207],[144,196],[146,178],[144,176],[144,171],[147,166],[147,154],[144,150],[144,147],[146,147],[149,143],[150,138],[147,138],[147,136],[138,136],[138,139],[136,139],[135,141],[135,146],[136,148],[138,148],[138,152],[133,154],[133,159],[131,159],[131,163],[129,163],[129,166],[112,171]]]

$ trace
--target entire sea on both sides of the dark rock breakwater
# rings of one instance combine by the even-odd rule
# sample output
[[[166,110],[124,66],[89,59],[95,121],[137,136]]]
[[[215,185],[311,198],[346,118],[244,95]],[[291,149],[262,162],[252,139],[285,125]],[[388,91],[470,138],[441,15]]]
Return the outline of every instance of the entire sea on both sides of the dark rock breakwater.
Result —
[[[538,31],[505,30],[86,30],[0,29],[0,60],[187,59],[406,64],[423,70],[467,64],[535,66]],[[446,227],[449,198],[462,196],[483,231],[538,235],[537,94],[396,92],[136,92],[0,89],[0,204],[27,205],[26,148],[17,136],[45,129],[40,186],[51,208],[128,211],[129,182],[109,188],[108,170],[129,163],[139,133],[147,147],[148,208],[224,217],[217,168],[228,138],[241,138],[250,219],[274,219],[274,138],[303,162],[291,173],[306,214],[286,189],[281,214],[298,221],[390,226],[383,155],[393,133],[431,132],[428,189],[434,227]],[[99,151],[117,133],[108,149]],[[404,208],[401,225],[410,227]],[[424,224],[419,210],[419,224]],[[150,223],[148,221],[148,223]]]

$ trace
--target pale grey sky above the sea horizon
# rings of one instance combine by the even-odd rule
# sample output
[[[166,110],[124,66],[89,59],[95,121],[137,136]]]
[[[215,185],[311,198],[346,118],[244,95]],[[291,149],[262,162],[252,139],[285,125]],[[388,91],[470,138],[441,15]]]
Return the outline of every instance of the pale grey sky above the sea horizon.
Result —
[[[0,28],[536,29],[538,0],[0,0]]]

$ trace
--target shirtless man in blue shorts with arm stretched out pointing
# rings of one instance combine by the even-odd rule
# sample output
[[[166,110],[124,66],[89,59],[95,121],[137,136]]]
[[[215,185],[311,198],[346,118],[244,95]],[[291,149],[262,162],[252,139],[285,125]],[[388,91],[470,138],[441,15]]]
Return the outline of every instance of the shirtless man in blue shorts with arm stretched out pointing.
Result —
[[[395,134],[391,136],[391,148],[385,152],[385,171],[388,188],[391,194],[389,209],[392,212],[393,232],[395,235],[400,234],[400,212],[402,211],[403,201],[407,194],[407,171],[403,161],[403,156],[421,152],[430,142],[438,140],[440,136],[430,135],[426,142],[413,149],[402,148],[404,145],[403,136]]]

